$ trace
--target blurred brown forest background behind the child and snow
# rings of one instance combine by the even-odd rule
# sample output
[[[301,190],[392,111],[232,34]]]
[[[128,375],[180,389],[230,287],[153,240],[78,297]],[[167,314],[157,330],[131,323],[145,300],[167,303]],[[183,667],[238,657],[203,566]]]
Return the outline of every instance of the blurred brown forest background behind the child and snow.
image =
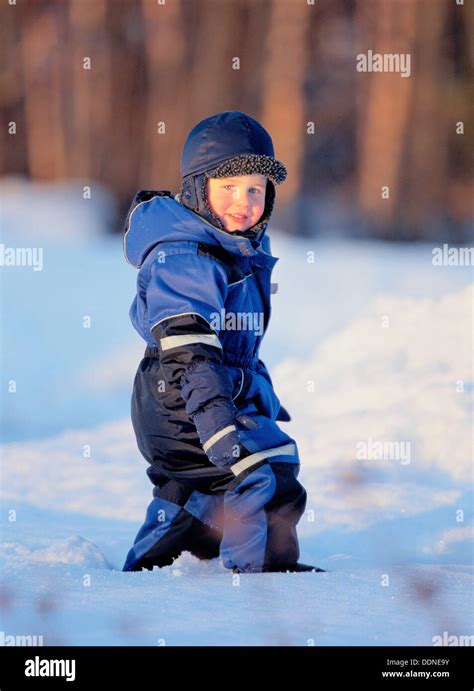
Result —
[[[196,122],[242,110],[289,170],[287,232],[468,242],[474,5],[458,2],[4,0],[0,175],[100,183],[124,215],[138,189],[179,190]],[[410,76],[358,72],[369,50],[409,53]]]

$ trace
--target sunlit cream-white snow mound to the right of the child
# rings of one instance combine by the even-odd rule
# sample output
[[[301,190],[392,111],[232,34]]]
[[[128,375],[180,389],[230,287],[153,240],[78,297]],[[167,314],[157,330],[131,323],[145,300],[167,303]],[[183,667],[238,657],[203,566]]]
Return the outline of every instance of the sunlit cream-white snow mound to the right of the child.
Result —
[[[400,503],[410,504],[404,489],[415,498],[410,482],[423,505],[453,501],[471,478],[473,301],[472,285],[440,300],[380,297],[308,360],[276,368],[289,433],[318,484],[326,472],[396,469]],[[404,454],[377,455],[377,442]]]

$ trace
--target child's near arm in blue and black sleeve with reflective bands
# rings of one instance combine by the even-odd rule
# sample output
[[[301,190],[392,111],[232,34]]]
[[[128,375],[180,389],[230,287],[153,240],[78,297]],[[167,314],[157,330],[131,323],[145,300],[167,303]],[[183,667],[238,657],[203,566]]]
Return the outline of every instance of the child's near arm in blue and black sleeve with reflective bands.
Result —
[[[151,263],[146,293],[166,386],[180,390],[211,462],[227,465],[246,454],[239,426],[248,418],[242,420],[233,401],[237,368],[223,364],[222,346],[210,326],[213,313],[224,309],[226,274],[219,262],[195,253],[164,259]]]

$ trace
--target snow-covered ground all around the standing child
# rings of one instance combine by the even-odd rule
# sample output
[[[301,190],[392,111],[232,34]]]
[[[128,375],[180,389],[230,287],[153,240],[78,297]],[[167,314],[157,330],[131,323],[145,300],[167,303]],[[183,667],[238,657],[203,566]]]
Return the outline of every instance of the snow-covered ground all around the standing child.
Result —
[[[43,249],[40,271],[1,267],[2,631],[79,645],[474,634],[472,267],[433,266],[428,244],[272,229],[261,355],[308,490],[301,561],[328,572],[238,577],[185,553],[122,573],[152,488],[129,419],[136,271],[102,232],[103,191],[9,180],[0,193],[1,242]]]

